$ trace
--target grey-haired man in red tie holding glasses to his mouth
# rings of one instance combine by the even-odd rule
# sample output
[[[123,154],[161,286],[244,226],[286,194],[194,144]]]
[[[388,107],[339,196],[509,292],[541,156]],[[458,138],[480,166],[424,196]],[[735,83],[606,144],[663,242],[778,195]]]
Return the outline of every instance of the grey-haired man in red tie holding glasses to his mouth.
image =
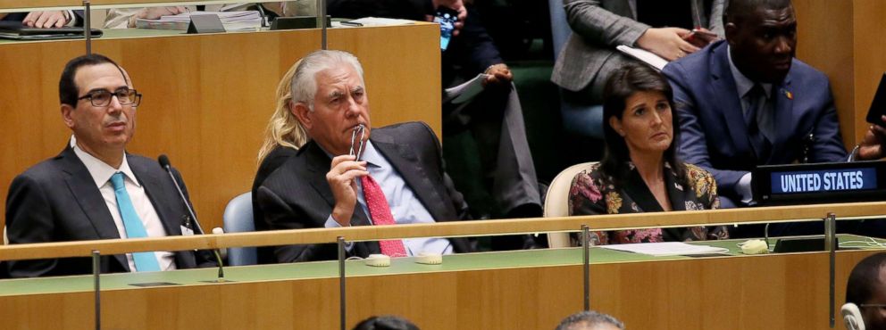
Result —
[[[354,55],[317,51],[302,59],[292,81],[290,109],[310,141],[258,188],[268,227],[380,226],[466,217],[466,204],[443,170],[439,141],[427,125],[372,129],[363,68]],[[355,132],[361,125],[364,134]],[[349,255],[360,257],[470,251],[464,238],[347,246]],[[335,244],[290,245],[275,254],[280,262],[330,260],[337,249]]]

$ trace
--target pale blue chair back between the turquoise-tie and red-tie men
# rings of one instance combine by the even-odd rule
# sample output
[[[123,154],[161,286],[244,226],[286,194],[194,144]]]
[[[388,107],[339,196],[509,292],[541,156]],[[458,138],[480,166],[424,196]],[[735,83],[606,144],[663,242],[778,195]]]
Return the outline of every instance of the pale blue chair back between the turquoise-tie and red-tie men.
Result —
[[[228,202],[224,208],[224,232],[242,233],[255,231],[252,216],[252,193],[240,194]],[[230,266],[255,265],[258,263],[258,252],[255,247],[239,247],[228,249]]]

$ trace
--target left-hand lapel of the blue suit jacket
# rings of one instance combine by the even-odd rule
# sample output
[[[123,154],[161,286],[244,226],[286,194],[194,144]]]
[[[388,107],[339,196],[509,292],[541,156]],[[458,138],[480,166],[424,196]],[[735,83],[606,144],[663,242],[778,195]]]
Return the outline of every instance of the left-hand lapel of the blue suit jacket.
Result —
[[[751,148],[750,137],[748,136],[748,125],[745,123],[744,115],[741,111],[741,95],[738,95],[737,88],[735,87],[735,78],[732,77],[730,70],[729,57],[726,54],[728,47],[726,45],[723,42],[711,49],[711,52],[714,52],[710,63],[711,76],[714,78],[714,83],[711,85],[713,90],[710,95],[731,98],[719,103],[722,107],[720,111],[723,115],[722,127],[729,131],[729,136],[731,136],[732,144],[735,145],[737,154],[756,158],[756,154]]]

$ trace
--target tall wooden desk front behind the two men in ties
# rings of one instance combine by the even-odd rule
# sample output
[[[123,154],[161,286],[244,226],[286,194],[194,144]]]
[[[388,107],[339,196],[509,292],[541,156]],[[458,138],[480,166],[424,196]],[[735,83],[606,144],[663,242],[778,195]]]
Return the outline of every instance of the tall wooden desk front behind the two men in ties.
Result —
[[[158,33],[167,36],[146,37]],[[225,205],[252,186],[280,77],[320,48],[320,31],[168,34],[109,31],[93,51],[129,70],[145,95],[129,151],[168,154],[204,227],[221,227]],[[440,134],[436,25],[330,29],[329,48],[363,63],[373,126],[422,120]],[[60,153],[71,136],[58,79],[64,63],[84,52],[83,41],[0,44],[0,201],[13,177]]]

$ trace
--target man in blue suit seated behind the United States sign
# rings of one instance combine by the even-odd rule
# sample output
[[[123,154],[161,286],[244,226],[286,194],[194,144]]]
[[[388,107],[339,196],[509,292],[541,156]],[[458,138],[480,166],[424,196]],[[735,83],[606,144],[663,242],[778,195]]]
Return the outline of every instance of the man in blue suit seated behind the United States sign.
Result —
[[[664,67],[681,123],[681,158],[714,174],[723,208],[752,204],[757,165],[847,161],[827,76],[794,58],[790,0],[732,0],[726,40]],[[853,152],[882,157],[880,127]]]

